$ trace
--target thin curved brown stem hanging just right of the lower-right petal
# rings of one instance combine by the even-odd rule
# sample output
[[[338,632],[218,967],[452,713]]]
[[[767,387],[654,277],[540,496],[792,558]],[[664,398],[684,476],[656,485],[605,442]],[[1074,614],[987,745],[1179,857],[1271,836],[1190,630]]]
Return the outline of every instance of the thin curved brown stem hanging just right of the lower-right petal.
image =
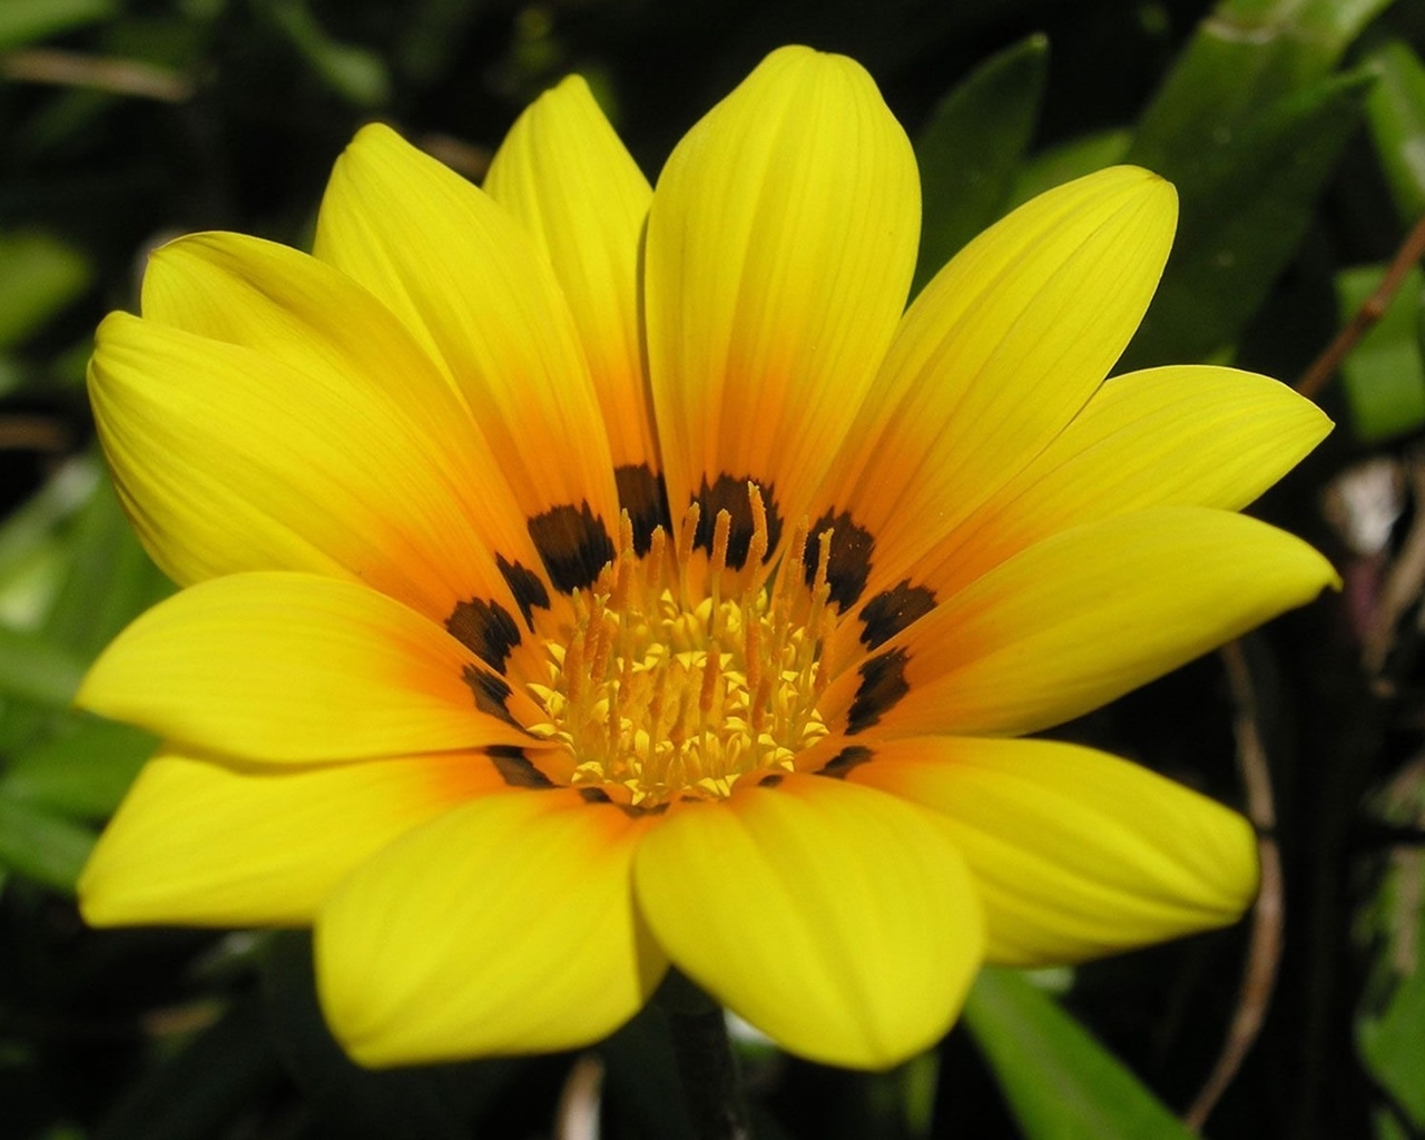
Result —
[[[1241,1069],[1261,1033],[1261,1025],[1277,986],[1277,965],[1281,960],[1281,929],[1285,919],[1281,882],[1281,852],[1277,846],[1277,808],[1271,794],[1271,774],[1267,750],[1263,747],[1257,688],[1247,667],[1247,656],[1240,641],[1221,650],[1227,671],[1227,685],[1233,698],[1233,731],[1237,737],[1237,767],[1247,797],[1247,815],[1257,829],[1257,855],[1261,862],[1261,888],[1251,915],[1251,940],[1243,963],[1243,980],[1237,995],[1237,1010],[1227,1029],[1217,1064],[1203,1083],[1197,1099],[1183,1114],[1183,1123],[1200,1130]]]

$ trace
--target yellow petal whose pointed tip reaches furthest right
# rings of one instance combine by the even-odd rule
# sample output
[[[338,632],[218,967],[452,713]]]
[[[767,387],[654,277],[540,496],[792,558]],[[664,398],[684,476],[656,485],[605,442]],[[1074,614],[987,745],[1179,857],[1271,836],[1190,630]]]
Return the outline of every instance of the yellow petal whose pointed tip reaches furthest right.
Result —
[[[1255,519],[1159,507],[1056,534],[828,688],[852,732],[1020,735],[1062,724],[1338,584]]]

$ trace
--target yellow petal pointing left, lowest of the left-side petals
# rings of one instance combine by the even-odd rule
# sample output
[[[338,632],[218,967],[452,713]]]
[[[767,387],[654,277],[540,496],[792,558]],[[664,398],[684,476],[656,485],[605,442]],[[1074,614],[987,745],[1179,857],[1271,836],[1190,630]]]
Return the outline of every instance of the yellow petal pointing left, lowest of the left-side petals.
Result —
[[[311,923],[352,868],[503,787],[470,752],[294,770],[165,751],[100,836],[80,908],[95,926]]]

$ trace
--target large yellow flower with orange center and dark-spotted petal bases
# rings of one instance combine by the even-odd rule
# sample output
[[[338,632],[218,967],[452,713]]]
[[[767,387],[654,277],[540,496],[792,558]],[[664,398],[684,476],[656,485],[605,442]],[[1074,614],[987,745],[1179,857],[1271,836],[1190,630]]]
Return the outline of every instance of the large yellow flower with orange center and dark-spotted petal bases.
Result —
[[[1245,821],[1012,738],[1335,580],[1234,513],[1312,405],[1103,380],[1174,202],[1060,187],[902,312],[906,137],[855,63],[785,48],[656,191],[571,78],[483,192],[368,127],[312,256],[167,245],[90,385],[185,589],[80,698],[167,744],[84,913],[315,926],[369,1064],[597,1040],[671,963],[886,1066],[983,960],[1233,922]]]

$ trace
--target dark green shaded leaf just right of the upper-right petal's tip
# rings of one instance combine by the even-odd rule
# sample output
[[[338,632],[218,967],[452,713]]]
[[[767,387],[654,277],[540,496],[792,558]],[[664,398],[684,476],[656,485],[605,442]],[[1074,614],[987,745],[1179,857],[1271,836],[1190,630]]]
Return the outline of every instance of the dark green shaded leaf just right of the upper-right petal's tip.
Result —
[[[1198,152],[1134,141],[1129,160],[1177,185],[1177,241],[1121,368],[1203,361],[1241,335],[1295,254],[1359,123],[1371,77],[1337,76],[1223,125]],[[1210,108],[1203,108],[1211,115]]]

